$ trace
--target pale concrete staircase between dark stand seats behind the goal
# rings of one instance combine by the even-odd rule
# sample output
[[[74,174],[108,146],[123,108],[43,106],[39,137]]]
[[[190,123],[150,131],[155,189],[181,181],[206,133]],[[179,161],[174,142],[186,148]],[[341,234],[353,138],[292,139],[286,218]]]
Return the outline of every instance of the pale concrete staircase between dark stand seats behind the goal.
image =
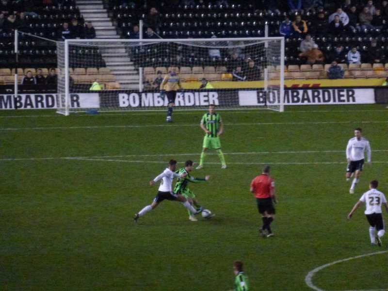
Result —
[[[104,8],[102,0],[76,0],[85,22],[91,21],[97,39],[119,39],[116,27]],[[122,47],[120,47],[122,46]],[[100,48],[106,66],[110,68],[121,89],[138,89],[139,72],[131,62],[124,45],[114,43]]]

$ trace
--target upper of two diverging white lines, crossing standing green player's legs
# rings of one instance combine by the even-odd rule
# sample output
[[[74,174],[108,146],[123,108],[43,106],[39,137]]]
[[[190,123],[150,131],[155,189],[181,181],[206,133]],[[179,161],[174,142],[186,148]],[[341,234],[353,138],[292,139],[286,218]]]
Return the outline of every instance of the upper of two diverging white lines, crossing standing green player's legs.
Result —
[[[224,155],[267,155],[267,154],[308,154],[308,153],[343,153],[343,150],[306,150],[306,151],[262,151],[262,152],[232,152]],[[373,152],[388,152],[388,149],[374,149]],[[180,154],[146,154],[146,155],[114,155],[114,156],[79,156],[79,157],[41,157],[41,158],[7,158],[0,161],[34,161],[34,160],[61,160],[61,159],[103,159],[103,158],[131,158],[131,157],[174,157],[174,156],[199,156],[200,153]],[[216,155],[208,153],[208,155]],[[105,160],[104,160],[105,161]]]

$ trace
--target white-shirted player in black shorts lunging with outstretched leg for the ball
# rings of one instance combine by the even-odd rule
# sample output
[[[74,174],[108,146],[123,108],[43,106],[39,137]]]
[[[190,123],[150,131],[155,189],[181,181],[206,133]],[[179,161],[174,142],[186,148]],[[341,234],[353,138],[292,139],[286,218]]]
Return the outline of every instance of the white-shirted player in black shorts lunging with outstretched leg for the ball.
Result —
[[[159,186],[158,194],[156,195],[154,201],[151,205],[147,205],[145,208],[140,210],[138,213],[136,213],[133,216],[133,221],[137,222],[140,216],[143,216],[147,212],[155,209],[158,207],[158,205],[165,199],[172,200],[172,201],[179,201],[183,204],[184,207],[186,207],[188,210],[191,211],[192,214],[199,213],[195,208],[187,201],[185,197],[183,197],[181,194],[174,194],[171,192],[171,185],[173,183],[173,179],[176,177],[185,178],[187,174],[183,173],[181,175],[174,173],[174,171],[177,168],[177,161],[170,160],[168,163],[168,168],[166,168],[162,174],[160,174],[155,179],[149,181],[149,184],[155,185],[155,182],[162,179],[161,185]]]

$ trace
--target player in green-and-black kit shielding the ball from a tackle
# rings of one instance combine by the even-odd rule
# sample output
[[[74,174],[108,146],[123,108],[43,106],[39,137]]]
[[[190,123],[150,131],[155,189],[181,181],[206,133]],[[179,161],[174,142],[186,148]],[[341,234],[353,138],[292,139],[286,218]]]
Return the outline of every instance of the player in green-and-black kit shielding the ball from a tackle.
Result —
[[[177,173],[180,176],[184,176],[183,178],[179,178],[177,180],[177,183],[175,184],[174,188],[174,193],[175,194],[181,194],[183,195],[189,202],[190,204],[194,205],[197,209],[197,213],[202,210],[202,207],[198,204],[198,201],[195,198],[194,193],[187,187],[189,182],[200,182],[200,181],[208,181],[210,176],[205,176],[205,178],[194,178],[193,176],[190,175],[190,172],[193,171],[193,161],[186,161],[185,167],[180,168]],[[187,176],[186,176],[187,175]],[[189,219],[191,221],[197,221],[197,219],[194,217],[194,215],[189,212]]]

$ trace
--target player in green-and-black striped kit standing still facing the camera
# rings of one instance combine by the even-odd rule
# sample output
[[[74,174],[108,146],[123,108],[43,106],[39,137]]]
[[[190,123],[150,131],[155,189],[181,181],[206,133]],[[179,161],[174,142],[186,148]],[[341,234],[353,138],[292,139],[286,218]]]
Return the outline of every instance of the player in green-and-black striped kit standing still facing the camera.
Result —
[[[221,150],[220,135],[224,132],[224,125],[222,123],[221,115],[215,112],[215,105],[209,105],[209,113],[205,113],[201,119],[201,129],[205,131],[205,137],[203,138],[203,149],[201,153],[201,159],[196,169],[203,168],[203,161],[205,159],[205,152],[208,148],[214,148],[221,161],[221,168],[226,168],[226,162],[224,154]]]

